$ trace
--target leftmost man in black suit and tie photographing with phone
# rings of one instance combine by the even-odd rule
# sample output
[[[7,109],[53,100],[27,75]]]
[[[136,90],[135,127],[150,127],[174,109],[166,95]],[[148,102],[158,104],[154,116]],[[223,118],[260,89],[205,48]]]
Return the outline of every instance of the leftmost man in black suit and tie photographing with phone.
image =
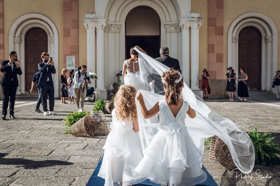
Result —
[[[3,76],[0,84],[2,85],[3,105],[2,105],[2,119],[6,119],[7,108],[10,100],[10,118],[14,117],[14,106],[16,100],[16,89],[18,87],[17,74],[21,75],[20,61],[17,60],[15,51],[10,52],[10,58],[1,63],[1,72]]]

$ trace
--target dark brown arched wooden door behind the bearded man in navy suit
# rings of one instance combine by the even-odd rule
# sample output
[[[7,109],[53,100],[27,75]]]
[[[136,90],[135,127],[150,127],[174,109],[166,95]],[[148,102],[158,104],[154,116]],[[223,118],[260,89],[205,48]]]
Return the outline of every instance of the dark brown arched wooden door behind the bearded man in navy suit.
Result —
[[[25,35],[25,91],[30,91],[33,75],[38,72],[40,56],[44,51],[48,51],[47,33],[38,27],[28,30]]]

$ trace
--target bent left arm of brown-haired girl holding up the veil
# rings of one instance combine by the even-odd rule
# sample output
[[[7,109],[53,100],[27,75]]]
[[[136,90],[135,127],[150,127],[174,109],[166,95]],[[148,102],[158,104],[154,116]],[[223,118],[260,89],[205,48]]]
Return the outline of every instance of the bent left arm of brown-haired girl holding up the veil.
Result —
[[[158,102],[150,110],[148,110],[140,92],[137,93],[135,98],[139,101],[140,110],[145,119],[151,118],[159,112]]]

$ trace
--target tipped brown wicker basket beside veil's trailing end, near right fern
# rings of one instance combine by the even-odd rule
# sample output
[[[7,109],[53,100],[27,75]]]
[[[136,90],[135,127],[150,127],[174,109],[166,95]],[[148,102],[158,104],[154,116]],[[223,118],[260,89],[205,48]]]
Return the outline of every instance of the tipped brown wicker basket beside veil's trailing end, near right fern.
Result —
[[[230,170],[237,168],[232,160],[231,153],[227,145],[222,141],[222,139],[218,138],[216,140],[214,152],[216,159],[222,166]]]

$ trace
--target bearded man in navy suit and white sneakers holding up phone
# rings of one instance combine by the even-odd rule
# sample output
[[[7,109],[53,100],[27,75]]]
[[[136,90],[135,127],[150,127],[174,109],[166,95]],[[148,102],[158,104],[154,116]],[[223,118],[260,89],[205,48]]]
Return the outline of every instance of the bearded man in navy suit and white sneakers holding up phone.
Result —
[[[52,74],[55,74],[54,62],[49,60],[49,54],[43,52],[41,55],[42,63],[38,64],[40,74],[39,82],[40,94],[44,109],[44,116],[48,115],[47,98],[49,95],[49,115],[56,115],[54,112],[54,82]]]

